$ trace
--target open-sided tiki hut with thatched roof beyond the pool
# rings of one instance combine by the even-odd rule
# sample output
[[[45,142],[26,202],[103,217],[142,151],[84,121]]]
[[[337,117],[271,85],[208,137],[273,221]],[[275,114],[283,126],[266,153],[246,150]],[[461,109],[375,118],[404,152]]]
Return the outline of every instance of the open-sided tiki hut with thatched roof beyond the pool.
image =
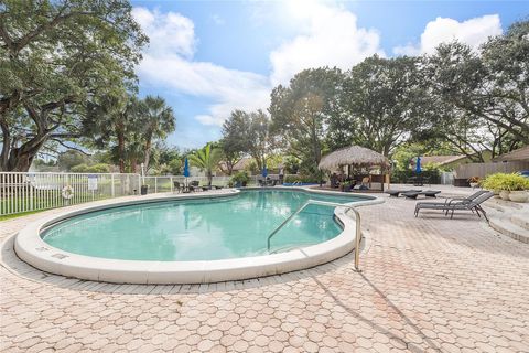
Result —
[[[385,170],[388,170],[389,161],[374,150],[360,146],[350,146],[324,156],[317,167],[328,172],[339,171],[341,175],[336,176],[338,181],[347,181],[346,184],[349,184],[353,190],[366,191],[367,188],[371,191],[384,191],[384,183],[388,180]],[[355,172],[355,175],[352,175],[352,167],[356,171],[364,170],[365,172]],[[344,175],[344,168],[347,168],[346,176]],[[371,173],[374,168],[377,168],[379,173]],[[332,188],[337,186],[333,179],[334,175],[331,176]]]

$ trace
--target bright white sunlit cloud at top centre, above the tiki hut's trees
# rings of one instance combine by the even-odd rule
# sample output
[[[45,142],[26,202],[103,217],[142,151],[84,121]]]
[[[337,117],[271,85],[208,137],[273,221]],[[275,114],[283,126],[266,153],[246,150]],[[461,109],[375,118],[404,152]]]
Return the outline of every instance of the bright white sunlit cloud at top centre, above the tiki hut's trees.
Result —
[[[348,69],[373,54],[385,55],[379,33],[358,28],[353,12],[314,1],[290,1],[288,4],[302,34],[270,54],[273,85],[288,83],[305,68],[337,66]]]

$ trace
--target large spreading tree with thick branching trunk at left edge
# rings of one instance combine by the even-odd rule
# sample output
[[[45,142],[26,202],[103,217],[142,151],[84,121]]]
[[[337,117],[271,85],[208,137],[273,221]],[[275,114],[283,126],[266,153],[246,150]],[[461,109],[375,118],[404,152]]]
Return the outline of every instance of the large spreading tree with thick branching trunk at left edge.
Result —
[[[0,3],[0,168],[80,136],[85,103],[132,83],[147,38],[126,0]]]

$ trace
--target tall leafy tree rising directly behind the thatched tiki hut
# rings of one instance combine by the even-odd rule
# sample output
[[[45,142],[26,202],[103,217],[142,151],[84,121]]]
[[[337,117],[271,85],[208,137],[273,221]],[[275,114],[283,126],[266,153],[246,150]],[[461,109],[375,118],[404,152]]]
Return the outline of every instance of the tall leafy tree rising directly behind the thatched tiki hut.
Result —
[[[346,73],[331,140],[341,136],[389,156],[422,125],[422,96],[417,58],[368,57]]]

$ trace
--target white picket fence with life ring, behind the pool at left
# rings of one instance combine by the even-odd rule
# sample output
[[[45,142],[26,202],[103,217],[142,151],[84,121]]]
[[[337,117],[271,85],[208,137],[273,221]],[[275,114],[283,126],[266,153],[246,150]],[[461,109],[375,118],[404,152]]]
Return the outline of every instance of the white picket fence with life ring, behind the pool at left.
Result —
[[[214,176],[212,184],[226,186],[230,178]],[[257,185],[261,179],[263,179],[261,175],[252,175],[248,185]],[[207,176],[190,176],[187,180],[198,181],[201,185],[207,184]],[[134,195],[140,193],[141,184],[149,185],[149,193],[172,192],[174,182],[183,184],[184,181],[183,175],[0,172],[0,215]]]

